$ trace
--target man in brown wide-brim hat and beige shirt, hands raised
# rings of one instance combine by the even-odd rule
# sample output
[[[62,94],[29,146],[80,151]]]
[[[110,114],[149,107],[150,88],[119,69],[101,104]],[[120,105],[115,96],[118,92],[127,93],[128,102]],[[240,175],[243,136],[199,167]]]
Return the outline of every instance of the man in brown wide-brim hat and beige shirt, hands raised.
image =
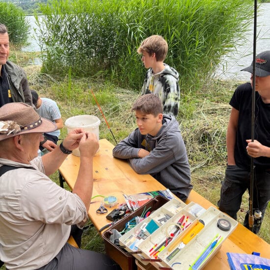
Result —
[[[42,134],[55,129],[24,103],[0,108],[0,260],[9,270],[118,269],[106,255],[67,243],[71,228],[82,229],[87,220],[99,143],[93,133],[77,129],[37,157]],[[78,146],[81,165],[71,193],[48,175]],[[74,231],[80,240],[81,230]]]

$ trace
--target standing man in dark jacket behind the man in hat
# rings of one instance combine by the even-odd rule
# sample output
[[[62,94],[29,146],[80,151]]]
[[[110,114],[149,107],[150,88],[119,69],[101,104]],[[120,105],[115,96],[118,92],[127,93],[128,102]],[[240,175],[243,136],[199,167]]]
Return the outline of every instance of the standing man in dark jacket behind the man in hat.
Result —
[[[8,56],[7,27],[0,24],[0,107],[11,102],[23,102],[33,107],[26,73],[8,61]]]

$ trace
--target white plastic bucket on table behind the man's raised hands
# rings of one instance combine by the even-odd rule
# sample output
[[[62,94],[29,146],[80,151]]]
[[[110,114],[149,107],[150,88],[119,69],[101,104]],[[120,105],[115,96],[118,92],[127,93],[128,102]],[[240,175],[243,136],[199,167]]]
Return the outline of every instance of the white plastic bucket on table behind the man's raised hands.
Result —
[[[98,140],[99,125],[99,118],[97,116],[88,114],[72,116],[65,121],[65,126],[67,127],[68,133],[70,133],[74,129],[81,128],[85,131],[92,132],[97,135]],[[79,148],[74,149],[72,154],[74,156],[80,157]]]

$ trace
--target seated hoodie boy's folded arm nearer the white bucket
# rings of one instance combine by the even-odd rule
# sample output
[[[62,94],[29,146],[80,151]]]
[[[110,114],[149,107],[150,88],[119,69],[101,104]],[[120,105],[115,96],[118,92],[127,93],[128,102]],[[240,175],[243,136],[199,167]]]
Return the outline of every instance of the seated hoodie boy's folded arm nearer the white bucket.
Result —
[[[112,150],[114,158],[118,159],[131,159],[138,158],[138,152],[140,150],[138,146],[138,130],[136,129],[128,137],[121,140]]]

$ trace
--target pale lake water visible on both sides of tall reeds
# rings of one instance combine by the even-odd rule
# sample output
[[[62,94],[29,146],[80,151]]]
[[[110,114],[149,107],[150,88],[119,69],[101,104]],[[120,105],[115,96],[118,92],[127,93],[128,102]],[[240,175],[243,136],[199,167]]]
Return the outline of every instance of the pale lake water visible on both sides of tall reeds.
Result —
[[[260,4],[258,8],[257,16],[257,42],[256,52],[257,54],[263,51],[270,50],[270,3]],[[27,20],[30,23],[31,30],[29,35],[29,46],[23,48],[23,51],[27,52],[39,52],[40,47],[37,44],[35,38],[34,28],[35,19],[34,16],[27,16]],[[248,81],[250,73],[246,71],[240,71],[242,68],[251,65],[253,59],[253,25],[247,32],[248,41],[241,46],[237,46],[236,49],[226,55],[219,65],[215,77],[224,80],[239,80]]]

